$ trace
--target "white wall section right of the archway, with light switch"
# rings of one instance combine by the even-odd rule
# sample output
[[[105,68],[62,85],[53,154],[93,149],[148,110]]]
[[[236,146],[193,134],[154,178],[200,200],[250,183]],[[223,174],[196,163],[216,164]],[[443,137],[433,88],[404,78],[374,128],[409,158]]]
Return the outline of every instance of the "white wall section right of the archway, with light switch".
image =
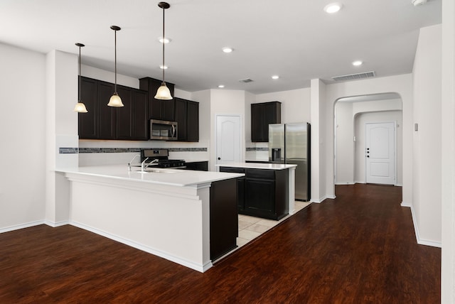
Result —
[[[441,25],[421,28],[414,59],[412,217],[421,244],[441,242]]]

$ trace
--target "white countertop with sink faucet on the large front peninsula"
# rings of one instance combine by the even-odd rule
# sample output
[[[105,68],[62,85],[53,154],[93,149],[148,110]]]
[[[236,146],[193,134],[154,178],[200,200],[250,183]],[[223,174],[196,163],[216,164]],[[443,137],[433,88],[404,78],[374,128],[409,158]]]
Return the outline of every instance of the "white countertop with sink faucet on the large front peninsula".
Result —
[[[242,173],[161,169],[150,167],[147,169],[149,171],[147,173],[141,173],[138,170],[140,171],[140,168],[132,167],[131,171],[128,171],[128,165],[94,165],[79,168],[63,168],[55,171],[102,178],[112,178],[116,180],[129,180],[141,183],[154,183],[181,187],[211,183],[218,180],[227,180],[230,178],[239,178],[245,175]],[[159,173],[153,172],[153,170],[158,170]]]

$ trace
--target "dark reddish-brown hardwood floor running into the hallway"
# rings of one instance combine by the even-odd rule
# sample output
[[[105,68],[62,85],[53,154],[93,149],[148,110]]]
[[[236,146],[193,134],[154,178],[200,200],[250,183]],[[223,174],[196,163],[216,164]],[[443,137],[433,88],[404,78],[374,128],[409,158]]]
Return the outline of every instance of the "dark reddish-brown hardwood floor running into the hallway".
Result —
[[[193,271],[67,225],[0,234],[0,303],[440,303],[441,249],[416,243],[401,188],[336,187]]]

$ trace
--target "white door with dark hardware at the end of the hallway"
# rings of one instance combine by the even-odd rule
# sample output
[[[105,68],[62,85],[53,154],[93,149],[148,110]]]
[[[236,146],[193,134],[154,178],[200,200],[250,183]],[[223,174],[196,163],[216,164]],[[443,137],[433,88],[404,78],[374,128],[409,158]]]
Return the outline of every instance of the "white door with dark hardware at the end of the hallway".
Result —
[[[365,124],[366,182],[395,185],[395,122]]]

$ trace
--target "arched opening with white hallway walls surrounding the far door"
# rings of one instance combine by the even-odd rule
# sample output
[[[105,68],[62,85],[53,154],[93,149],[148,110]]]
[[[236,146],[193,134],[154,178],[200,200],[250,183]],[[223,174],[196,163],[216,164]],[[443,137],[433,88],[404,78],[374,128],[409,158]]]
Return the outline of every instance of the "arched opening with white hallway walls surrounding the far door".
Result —
[[[402,98],[390,92],[341,97],[333,105],[335,185],[365,183],[365,124],[395,121],[395,185],[402,185]]]

